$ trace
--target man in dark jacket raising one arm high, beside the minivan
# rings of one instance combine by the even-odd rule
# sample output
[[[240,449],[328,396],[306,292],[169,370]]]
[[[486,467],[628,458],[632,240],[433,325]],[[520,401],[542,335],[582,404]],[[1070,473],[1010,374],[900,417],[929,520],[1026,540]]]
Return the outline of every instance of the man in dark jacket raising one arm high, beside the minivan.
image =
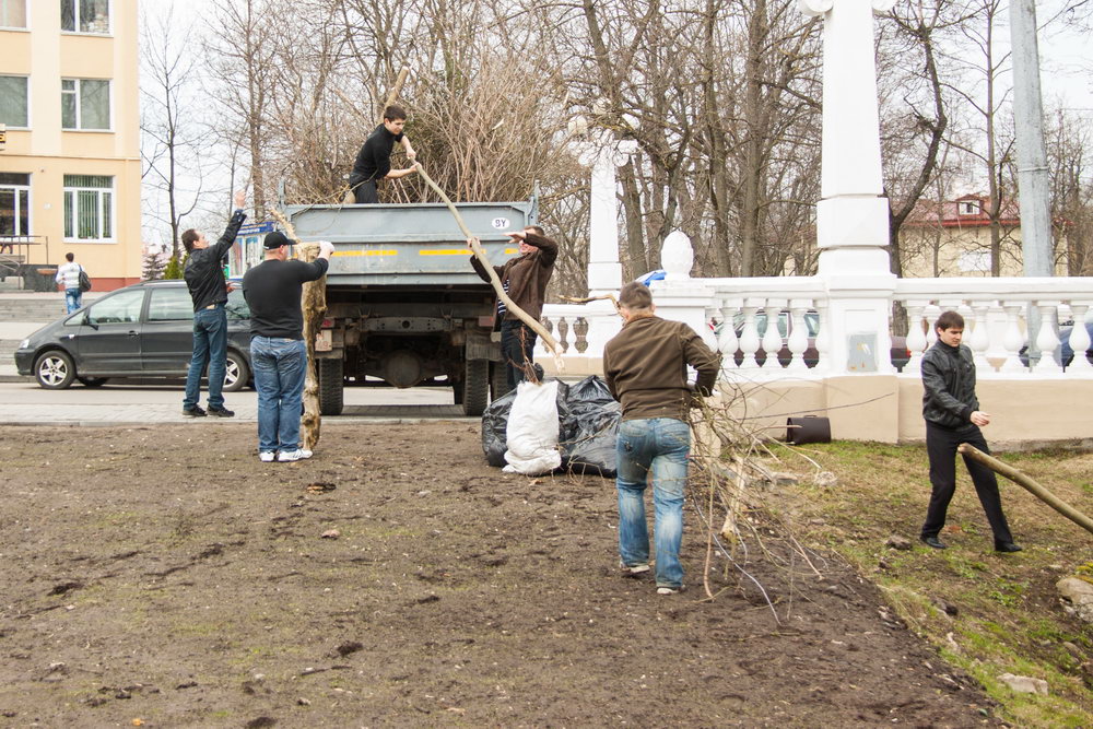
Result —
[[[246,195],[235,193],[235,214],[227,224],[224,235],[216,245],[210,246],[204,234],[190,228],[183,233],[183,246],[189,254],[186,261],[186,287],[193,301],[193,352],[186,373],[186,396],[183,398],[183,414],[189,418],[204,418],[207,414],[198,400],[201,399],[201,374],[209,364],[209,413],[220,418],[231,418],[235,413],[224,407],[224,371],[227,367],[227,283],[221,261],[235,243],[239,226],[247,219],[243,212]]]

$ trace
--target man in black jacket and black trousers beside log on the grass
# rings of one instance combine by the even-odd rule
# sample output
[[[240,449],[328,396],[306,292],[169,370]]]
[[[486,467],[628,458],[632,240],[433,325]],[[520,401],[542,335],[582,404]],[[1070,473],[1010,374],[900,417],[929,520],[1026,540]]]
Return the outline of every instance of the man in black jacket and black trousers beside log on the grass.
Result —
[[[922,355],[922,418],[926,419],[926,452],[930,458],[933,489],[921,539],[928,546],[943,550],[945,544],[938,534],[945,526],[949,502],[956,491],[956,448],[967,443],[989,454],[979,428],[990,423],[990,414],[979,410],[972,351],[961,344],[964,317],[956,311],[944,311],[933,327],[938,341]],[[995,472],[967,456],[964,465],[995,533],[995,550],[1020,552],[1002,514]]]

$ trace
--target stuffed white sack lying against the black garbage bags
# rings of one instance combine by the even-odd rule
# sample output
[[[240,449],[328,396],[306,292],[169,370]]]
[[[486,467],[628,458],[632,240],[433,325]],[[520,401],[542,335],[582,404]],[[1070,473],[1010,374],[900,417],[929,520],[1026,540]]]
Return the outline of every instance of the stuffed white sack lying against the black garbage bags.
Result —
[[[562,465],[557,450],[557,380],[545,384],[522,381],[508,413],[505,438],[508,450],[503,470],[539,475]]]

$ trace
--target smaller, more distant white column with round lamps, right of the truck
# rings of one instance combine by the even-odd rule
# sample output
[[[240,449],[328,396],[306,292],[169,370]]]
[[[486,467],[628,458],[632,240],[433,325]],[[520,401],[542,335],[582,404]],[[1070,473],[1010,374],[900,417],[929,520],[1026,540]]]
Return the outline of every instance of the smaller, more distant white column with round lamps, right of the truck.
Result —
[[[590,296],[616,293],[622,289],[619,262],[619,199],[615,167],[637,150],[634,140],[615,141],[607,130],[589,133],[578,143],[580,164],[591,167],[588,225],[588,290]]]

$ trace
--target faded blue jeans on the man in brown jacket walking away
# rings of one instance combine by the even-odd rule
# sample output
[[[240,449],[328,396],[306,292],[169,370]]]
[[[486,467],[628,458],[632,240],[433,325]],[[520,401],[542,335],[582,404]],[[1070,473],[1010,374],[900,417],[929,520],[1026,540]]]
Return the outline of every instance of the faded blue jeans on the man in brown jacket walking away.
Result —
[[[680,543],[683,541],[683,486],[691,426],[673,418],[624,420],[615,446],[619,477],[619,556],[634,566],[649,562],[645,522],[645,487],[653,474],[654,536],[657,586],[680,587]]]

